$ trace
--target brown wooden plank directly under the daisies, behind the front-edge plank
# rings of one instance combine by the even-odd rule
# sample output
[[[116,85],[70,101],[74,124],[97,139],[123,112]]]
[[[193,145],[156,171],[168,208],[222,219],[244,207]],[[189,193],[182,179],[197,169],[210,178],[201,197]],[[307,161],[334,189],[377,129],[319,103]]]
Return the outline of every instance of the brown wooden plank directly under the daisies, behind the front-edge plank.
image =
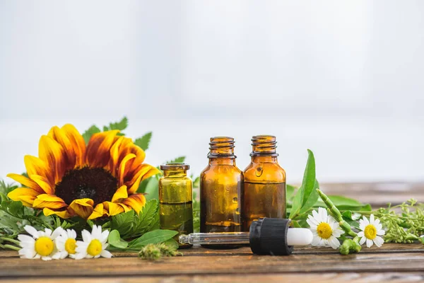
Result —
[[[186,255],[149,262],[134,257],[97,260],[25,260],[0,258],[3,277],[175,276],[285,272],[423,272],[424,253],[328,253],[289,257],[244,255]]]

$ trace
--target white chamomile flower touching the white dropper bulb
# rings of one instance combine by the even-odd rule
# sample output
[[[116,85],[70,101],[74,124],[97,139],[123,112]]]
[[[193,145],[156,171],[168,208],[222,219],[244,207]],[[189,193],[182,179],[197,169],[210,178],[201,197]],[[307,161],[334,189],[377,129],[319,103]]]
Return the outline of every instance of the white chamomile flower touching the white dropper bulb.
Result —
[[[344,231],[333,216],[327,214],[326,209],[319,207],[318,212],[314,210],[306,221],[314,235],[312,246],[331,246],[334,249],[340,246],[337,238]]]

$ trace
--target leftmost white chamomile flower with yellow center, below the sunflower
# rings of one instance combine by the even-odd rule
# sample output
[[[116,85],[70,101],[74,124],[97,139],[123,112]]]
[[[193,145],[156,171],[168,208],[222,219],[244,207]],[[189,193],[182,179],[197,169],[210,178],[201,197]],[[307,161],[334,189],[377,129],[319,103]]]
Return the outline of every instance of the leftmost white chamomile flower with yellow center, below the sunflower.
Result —
[[[58,227],[53,232],[50,229],[37,231],[33,226],[29,225],[26,225],[23,229],[32,237],[24,234],[18,235],[18,240],[22,247],[19,250],[20,258],[41,258],[42,260],[59,258],[54,241],[63,231],[61,227]]]

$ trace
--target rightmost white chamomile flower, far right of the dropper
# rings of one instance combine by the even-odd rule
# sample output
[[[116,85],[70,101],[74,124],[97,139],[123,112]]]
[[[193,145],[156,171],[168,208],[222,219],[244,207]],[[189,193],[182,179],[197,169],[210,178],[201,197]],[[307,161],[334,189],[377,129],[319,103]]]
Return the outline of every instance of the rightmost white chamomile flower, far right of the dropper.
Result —
[[[379,219],[374,219],[374,214],[370,215],[370,221],[368,221],[367,217],[363,216],[363,219],[359,220],[359,229],[362,230],[358,233],[358,237],[362,237],[359,244],[362,245],[366,241],[368,248],[373,243],[375,243],[375,246],[381,247],[384,240],[380,236],[386,233],[382,228],[383,226],[379,223]]]

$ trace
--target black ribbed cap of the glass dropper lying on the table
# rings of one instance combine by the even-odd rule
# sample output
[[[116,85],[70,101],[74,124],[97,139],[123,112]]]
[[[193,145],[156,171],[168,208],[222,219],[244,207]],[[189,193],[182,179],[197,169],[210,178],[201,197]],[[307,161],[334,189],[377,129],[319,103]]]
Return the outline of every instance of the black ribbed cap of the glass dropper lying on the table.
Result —
[[[293,246],[287,245],[290,219],[260,218],[250,225],[249,242],[257,255],[290,255]]]

